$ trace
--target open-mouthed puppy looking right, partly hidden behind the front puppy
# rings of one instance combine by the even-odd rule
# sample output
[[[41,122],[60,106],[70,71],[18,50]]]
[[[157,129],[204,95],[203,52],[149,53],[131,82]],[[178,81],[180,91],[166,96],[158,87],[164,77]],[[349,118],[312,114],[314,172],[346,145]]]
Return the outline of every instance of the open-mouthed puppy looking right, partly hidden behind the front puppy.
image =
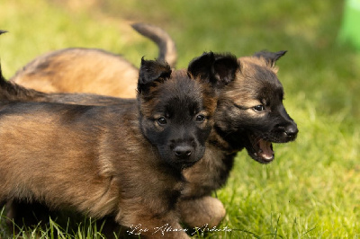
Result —
[[[198,164],[184,170],[189,183],[184,188],[178,209],[187,225],[203,226],[208,223],[216,226],[224,217],[224,207],[218,199],[211,198],[211,192],[226,183],[239,151],[246,148],[248,155],[257,162],[268,164],[275,158],[272,143],[286,143],[296,138],[298,128],[284,109],[284,89],[276,75],[275,62],[284,54],[285,51],[258,52],[238,59],[216,55],[215,66],[225,65],[229,67],[227,70],[234,70],[235,80],[229,81],[220,90],[215,125],[208,138],[205,155]],[[217,64],[217,61],[222,64]],[[27,95],[22,90],[14,92],[17,93],[13,93],[13,97],[23,101],[54,101],[52,97],[49,99],[49,95]],[[103,101],[97,97],[88,95],[85,100],[75,100],[90,104],[114,103],[109,102],[108,97]],[[116,98],[112,100],[116,102]],[[74,97],[67,101],[74,102]]]

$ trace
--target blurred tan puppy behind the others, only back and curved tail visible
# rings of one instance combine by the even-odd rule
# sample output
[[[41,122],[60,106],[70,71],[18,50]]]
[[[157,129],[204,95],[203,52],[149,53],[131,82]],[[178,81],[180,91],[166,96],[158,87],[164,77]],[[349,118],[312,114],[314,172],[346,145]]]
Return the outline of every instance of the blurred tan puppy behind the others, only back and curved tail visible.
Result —
[[[175,43],[166,31],[146,23],[135,23],[132,27],[157,44],[158,60],[175,67]],[[35,58],[11,80],[45,93],[100,93],[135,98],[138,75],[139,69],[121,56],[102,49],[75,48]]]

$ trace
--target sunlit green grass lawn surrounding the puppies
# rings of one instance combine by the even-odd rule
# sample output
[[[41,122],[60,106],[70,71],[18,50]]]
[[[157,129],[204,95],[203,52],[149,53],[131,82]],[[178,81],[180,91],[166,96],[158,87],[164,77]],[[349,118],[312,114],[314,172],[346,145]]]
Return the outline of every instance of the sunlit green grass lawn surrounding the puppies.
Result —
[[[79,10],[44,0],[7,1],[0,7],[0,29],[10,32],[0,37],[0,56],[7,77],[31,58],[67,47],[107,49],[138,66],[142,56],[155,58],[157,49],[131,31],[129,21],[165,28],[177,44],[179,67],[206,50],[240,57],[287,49],[278,61],[279,78],[299,137],[275,146],[272,164],[238,154],[227,186],[217,192],[227,208],[219,228],[234,230],[206,236],[358,238],[360,53],[338,44],[343,4],[124,0]]]

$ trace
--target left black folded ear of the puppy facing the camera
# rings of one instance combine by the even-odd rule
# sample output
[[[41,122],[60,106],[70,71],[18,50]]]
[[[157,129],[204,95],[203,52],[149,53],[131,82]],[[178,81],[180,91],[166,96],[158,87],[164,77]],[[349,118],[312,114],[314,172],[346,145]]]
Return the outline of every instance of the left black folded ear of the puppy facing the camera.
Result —
[[[166,62],[145,60],[141,58],[139,68],[138,92],[148,93],[151,86],[157,82],[164,82],[171,75],[171,68]]]

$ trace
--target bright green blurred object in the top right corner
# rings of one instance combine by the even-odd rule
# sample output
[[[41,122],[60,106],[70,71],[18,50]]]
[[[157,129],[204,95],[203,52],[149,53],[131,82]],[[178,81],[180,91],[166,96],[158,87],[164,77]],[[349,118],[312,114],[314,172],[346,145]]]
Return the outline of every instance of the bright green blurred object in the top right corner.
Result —
[[[360,50],[360,0],[345,2],[339,40]]]

